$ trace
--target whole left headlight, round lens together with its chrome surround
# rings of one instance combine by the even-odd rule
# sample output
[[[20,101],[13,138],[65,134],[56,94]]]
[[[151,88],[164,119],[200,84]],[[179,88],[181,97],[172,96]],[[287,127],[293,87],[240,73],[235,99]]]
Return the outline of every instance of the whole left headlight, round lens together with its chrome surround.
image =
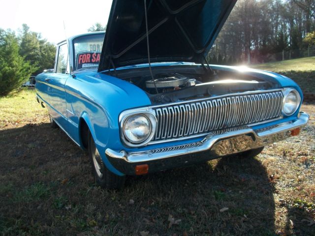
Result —
[[[124,119],[122,129],[123,140],[128,146],[143,146],[154,136],[156,118],[150,113],[133,114]]]

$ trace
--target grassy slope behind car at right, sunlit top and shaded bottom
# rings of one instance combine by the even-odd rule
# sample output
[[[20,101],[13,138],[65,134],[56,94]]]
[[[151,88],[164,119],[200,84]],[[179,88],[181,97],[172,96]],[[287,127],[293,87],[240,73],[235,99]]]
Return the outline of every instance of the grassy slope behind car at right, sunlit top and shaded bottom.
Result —
[[[315,57],[253,64],[251,67],[285,75],[294,80],[303,92],[315,93]]]

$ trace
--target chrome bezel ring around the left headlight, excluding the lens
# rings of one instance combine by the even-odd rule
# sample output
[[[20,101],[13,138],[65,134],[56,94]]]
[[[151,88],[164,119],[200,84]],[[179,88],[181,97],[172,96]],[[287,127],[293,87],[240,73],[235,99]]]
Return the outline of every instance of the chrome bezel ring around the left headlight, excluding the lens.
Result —
[[[146,137],[143,141],[141,142],[132,142],[126,137],[125,133],[125,126],[126,126],[126,121],[131,118],[132,116],[143,116],[148,119],[150,122],[151,126],[151,131],[148,137]],[[157,118],[155,117],[154,114],[148,111],[134,111],[134,112],[123,112],[120,116],[120,136],[123,141],[123,143],[130,147],[130,148],[137,148],[137,147],[143,147],[146,146],[154,137],[156,133],[156,128],[157,128]]]

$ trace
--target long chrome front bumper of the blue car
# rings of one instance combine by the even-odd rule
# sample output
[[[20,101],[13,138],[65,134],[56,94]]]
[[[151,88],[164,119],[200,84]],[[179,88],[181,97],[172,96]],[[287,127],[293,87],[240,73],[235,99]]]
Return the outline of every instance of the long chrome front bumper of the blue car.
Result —
[[[203,140],[185,145],[129,152],[107,148],[105,154],[111,164],[126,175],[135,175],[137,165],[148,164],[149,173],[171,169],[188,164],[204,162],[221,156],[263,147],[292,135],[292,130],[302,128],[309,115],[300,112],[293,121],[273,125],[260,130],[249,126],[225,129],[209,133]],[[197,152],[196,155],[187,155]]]

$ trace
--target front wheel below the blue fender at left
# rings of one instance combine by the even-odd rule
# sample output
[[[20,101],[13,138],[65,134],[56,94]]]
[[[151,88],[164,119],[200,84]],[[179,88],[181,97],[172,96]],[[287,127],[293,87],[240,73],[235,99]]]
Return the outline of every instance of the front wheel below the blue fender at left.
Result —
[[[101,156],[95,147],[94,139],[89,131],[88,134],[88,152],[92,164],[92,172],[96,183],[102,188],[119,189],[125,184],[125,176],[118,176],[109,171],[102,161]]]

